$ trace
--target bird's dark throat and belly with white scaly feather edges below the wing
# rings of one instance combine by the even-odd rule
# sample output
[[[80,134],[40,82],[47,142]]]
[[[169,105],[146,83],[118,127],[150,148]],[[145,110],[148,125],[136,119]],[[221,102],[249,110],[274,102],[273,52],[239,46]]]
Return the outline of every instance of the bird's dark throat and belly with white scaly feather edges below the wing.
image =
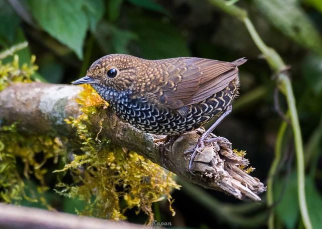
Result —
[[[178,135],[203,126],[224,111],[235,99],[239,86],[238,76],[223,90],[209,98],[185,106],[184,114],[149,103],[144,97],[131,99],[131,91],[118,92],[100,84],[92,84],[119,117],[137,129],[159,135]]]

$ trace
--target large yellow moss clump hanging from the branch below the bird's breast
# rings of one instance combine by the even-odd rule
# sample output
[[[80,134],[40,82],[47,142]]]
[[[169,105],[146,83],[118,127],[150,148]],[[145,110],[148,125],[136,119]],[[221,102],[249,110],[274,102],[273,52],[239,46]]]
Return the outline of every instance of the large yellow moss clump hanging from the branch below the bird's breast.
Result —
[[[172,179],[173,174],[135,152],[113,145],[108,139],[100,139],[98,133],[89,131],[88,116],[102,112],[108,106],[91,86],[84,86],[77,102],[82,105],[84,113],[66,122],[77,129],[84,154],[74,155],[74,160],[60,171],[71,171],[74,183],[82,182],[83,185],[60,183],[59,192],[87,201],[90,207],[82,212],[87,215],[119,220],[125,218],[127,209],[135,208],[137,213],[146,213],[148,223],[151,223],[152,203],[165,197],[174,214],[170,192],[173,188],[179,188],[179,185]],[[124,206],[123,203],[121,207],[124,201],[126,204]]]

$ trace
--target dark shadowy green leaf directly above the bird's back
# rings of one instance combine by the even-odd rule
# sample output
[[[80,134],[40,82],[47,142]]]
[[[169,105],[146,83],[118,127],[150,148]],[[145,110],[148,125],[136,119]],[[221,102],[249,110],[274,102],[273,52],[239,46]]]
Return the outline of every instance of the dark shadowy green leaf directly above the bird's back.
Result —
[[[190,56],[186,40],[178,28],[168,21],[132,14],[129,27],[138,39],[136,53],[145,59],[163,59]]]

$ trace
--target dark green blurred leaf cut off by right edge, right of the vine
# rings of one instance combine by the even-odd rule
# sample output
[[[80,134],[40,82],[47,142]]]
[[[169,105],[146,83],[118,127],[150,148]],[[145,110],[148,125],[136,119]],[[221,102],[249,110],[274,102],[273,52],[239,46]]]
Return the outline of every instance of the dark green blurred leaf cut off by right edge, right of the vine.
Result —
[[[322,58],[315,54],[309,54],[302,64],[302,75],[305,82],[318,95],[322,92]]]

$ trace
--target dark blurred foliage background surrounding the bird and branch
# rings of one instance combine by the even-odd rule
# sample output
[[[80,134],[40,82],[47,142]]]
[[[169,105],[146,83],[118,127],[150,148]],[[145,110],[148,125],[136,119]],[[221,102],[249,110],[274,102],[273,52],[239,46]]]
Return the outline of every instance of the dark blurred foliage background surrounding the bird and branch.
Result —
[[[229,62],[240,57],[249,59],[239,68],[240,96],[233,104],[232,113],[215,133],[228,138],[234,148],[247,150],[247,158],[256,168],[252,175],[266,182],[283,119],[275,109],[274,74],[243,23],[207,1],[33,0],[18,3],[0,0],[0,48],[5,50],[28,41],[29,47],[19,52],[20,61],[23,63],[31,54],[36,55],[39,66],[33,76],[36,80],[70,84],[85,76],[95,60],[112,53],[153,60],[183,56]],[[320,208],[315,208],[317,203],[322,204],[322,4],[314,0],[258,0],[236,4],[247,10],[264,42],[290,67],[304,142],[308,207],[309,212],[319,214],[312,219],[318,225],[318,218],[322,217]],[[85,16],[80,17],[79,12]],[[50,21],[48,15],[55,20]],[[278,101],[285,112],[284,97],[279,95]],[[280,228],[301,225],[293,145],[288,127],[273,187],[276,193],[273,210]],[[178,182],[181,184],[179,177]],[[254,203],[199,188],[184,185],[182,190],[173,192],[173,207],[177,212],[174,217],[167,201],[155,203],[156,219],[183,228],[266,227],[266,215],[271,208],[266,205],[265,193],[262,201]],[[72,209],[62,209],[62,201],[77,204],[72,202],[76,200],[60,199],[53,204],[59,210],[74,213]],[[214,205],[208,206],[207,202]],[[23,204],[30,205],[28,201]],[[127,216],[132,222],[146,220],[134,210],[128,211]]]

